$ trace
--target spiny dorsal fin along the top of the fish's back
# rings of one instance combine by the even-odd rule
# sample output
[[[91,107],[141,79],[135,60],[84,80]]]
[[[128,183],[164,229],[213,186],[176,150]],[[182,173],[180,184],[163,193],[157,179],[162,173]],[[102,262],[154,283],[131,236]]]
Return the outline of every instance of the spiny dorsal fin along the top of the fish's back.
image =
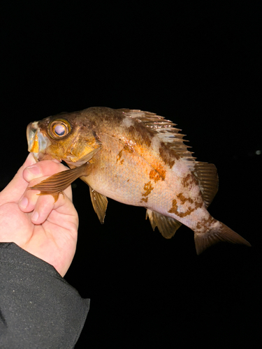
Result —
[[[131,117],[136,119],[136,121],[143,123],[147,128],[155,133],[161,142],[163,142],[166,147],[176,151],[177,155],[182,156],[184,160],[194,161],[192,152],[188,151],[183,140],[184,135],[179,133],[180,128],[175,128],[176,124],[173,124],[172,121],[160,117],[159,115],[153,112],[143,112],[142,110],[129,110],[129,109],[119,109],[122,111],[126,117]]]

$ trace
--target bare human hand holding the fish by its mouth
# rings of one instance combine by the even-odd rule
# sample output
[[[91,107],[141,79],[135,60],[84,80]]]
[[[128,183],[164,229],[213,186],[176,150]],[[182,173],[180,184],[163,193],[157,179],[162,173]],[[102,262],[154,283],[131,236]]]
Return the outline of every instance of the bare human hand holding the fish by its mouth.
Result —
[[[53,265],[64,276],[75,254],[78,213],[71,186],[59,195],[27,190],[50,175],[66,170],[61,163],[36,163],[29,154],[24,165],[0,193],[0,242],[15,242],[25,251]]]

